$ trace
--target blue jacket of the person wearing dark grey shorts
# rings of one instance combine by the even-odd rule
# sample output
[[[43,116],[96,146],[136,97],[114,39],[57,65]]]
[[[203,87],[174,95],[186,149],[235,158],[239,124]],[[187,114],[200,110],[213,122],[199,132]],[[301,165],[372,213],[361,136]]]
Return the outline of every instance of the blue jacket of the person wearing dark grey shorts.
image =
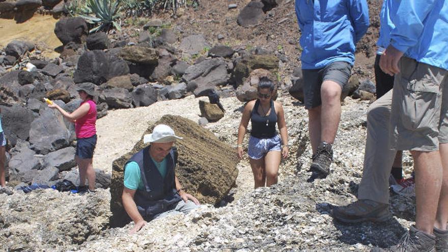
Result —
[[[354,64],[355,45],[369,27],[366,0],[296,0],[295,9],[303,69],[335,61]]]

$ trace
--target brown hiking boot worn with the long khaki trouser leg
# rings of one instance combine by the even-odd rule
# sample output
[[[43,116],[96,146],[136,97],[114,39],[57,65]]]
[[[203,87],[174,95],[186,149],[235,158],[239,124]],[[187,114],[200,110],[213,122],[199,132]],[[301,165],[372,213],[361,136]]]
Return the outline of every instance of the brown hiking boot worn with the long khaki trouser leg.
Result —
[[[346,223],[362,221],[385,221],[390,218],[389,205],[372,200],[357,200],[352,204],[337,207],[332,211],[333,218]]]

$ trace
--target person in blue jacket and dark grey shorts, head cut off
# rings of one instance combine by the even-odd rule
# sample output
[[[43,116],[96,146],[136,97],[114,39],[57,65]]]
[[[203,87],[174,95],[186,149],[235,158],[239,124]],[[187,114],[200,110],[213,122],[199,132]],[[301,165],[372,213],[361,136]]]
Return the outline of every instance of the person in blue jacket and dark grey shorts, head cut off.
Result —
[[[304,103],[309,116],[313,177],[326,177],[356,43],[369,27],[366,0],[296,0]]]

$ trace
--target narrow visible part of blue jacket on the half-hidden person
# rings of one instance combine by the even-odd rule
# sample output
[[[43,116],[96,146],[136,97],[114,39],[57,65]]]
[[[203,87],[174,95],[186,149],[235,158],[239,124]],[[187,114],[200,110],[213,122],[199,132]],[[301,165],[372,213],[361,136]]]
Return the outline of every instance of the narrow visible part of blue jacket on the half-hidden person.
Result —
[[[394,17],[397,13],[401,0],[384,0],[380,13],[380,37],[376,43],[378,46],[387,48],[390,44],[390,32],[395,29]]]

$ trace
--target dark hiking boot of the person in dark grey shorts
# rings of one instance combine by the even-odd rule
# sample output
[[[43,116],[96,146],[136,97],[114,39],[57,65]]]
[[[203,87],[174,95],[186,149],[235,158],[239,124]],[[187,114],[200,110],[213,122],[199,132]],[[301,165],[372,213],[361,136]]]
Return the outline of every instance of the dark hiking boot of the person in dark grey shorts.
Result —
[[[333,150],[331,145],[322,142],[317,148],[316,154],[313,155],[313,163],[310,170],[318,173],[320,178],[325,178],[330,173],[330,165],[333,161]]]

